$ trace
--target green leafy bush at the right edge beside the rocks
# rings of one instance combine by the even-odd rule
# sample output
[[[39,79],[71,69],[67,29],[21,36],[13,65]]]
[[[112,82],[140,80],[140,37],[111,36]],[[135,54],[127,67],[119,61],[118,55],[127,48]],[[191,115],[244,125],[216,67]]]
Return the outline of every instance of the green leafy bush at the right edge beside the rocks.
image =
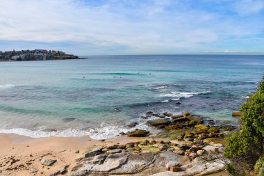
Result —
[[[242,104],[240,126],[226,138],[226,170],[232,175],[264,175],[264,75],[256,93]]]

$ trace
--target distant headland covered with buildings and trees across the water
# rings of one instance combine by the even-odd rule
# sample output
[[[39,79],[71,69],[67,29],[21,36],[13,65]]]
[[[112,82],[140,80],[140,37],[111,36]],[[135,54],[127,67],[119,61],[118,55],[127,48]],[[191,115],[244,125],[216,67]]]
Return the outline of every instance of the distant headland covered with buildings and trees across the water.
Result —
[[[0,61],[43,61],[76,59],[78,56],[66,54],[63,51],[51,51],[46,49],[22,50],[22,51],[0,51]]]

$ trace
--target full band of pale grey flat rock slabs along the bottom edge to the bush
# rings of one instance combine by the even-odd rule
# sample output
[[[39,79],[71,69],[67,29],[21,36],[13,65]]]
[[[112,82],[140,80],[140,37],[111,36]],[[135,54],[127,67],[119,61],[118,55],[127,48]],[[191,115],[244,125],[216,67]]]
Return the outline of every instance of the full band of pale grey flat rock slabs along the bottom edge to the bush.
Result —
[[[186,156],[174,152],[119,153],[110,154],[100,163],[92,163],[92,157],[83,159],[72,168],[71,176],[105,176],[105,175],[136,175],[136,176],[184,176],[206,175],[224,169],[220,162],[204,162],[197,157],[192,162]],[[169,167],[181,166],[179,172],[167,171]]]

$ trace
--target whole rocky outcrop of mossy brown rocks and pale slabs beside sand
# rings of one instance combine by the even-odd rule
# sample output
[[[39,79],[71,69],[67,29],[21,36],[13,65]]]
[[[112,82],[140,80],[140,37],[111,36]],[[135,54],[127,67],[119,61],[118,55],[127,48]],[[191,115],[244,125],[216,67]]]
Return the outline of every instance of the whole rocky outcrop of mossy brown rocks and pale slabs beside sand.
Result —
[[[163,129],[157,136],[125,145],[97,145],[83,153],[69,175],[208,175],[224,170],[224,136],[236,129],[231,125],[204,124],[199,115],[154,113],[147,125]],[[126,135],[146,137],[149,131],[135,129]],[[217,156],[215,159],[212,156]],[[218,159],[219,158],[219,159]]]

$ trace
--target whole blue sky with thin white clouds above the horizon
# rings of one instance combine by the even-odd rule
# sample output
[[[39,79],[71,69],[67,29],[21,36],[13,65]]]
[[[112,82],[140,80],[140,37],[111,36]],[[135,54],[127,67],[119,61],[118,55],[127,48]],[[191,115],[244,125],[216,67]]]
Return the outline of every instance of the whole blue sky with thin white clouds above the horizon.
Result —
[[[264,0],[0,0],[0,51],[264,52]]]

